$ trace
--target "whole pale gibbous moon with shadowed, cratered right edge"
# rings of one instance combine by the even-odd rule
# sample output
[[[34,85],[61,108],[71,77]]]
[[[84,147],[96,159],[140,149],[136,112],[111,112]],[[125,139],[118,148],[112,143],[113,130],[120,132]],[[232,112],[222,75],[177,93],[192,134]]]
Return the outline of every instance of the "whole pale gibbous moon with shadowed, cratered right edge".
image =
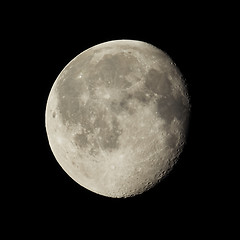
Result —
[[[54,82],[45,114],[52,152],[78,184],[121,198],[159,183],[186,142],[190,104],[172,59],[141,41],[93,46]]]

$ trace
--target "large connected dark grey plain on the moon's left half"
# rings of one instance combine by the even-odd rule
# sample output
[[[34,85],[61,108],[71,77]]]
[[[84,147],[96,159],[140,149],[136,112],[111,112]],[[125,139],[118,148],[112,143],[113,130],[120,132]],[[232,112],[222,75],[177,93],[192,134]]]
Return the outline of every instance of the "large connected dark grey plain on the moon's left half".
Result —
[[[76,74],[67,73],[58,84],[58,109],[61,120],[65,126],[80,124],[83,129],[86,129],[84,132],[77,133],[74,141],[80,148],[91,146],[90,153],[93,155],[96,155],[100,148],[112,151],[119,146],[118,137],[122,130],[119,128],[116,116],[111,111],[118,113],[120,105],[117,101],[111,101],[108,103],[111,111],[107,111],[101,99],[96,98],[94,91],[96,87],[112,87],[119,90],[131,85],[126,79],[121,79],[121,81],[119,79],[121,74],[127,74],[130,71],[122,58],[121,54],[116,54],[111,60],[110,56],[106,55],[95,66],[89,65],[90,69],[94,67],[94,71],[89,71],[89,74],[83,76],[86,79],[76,78]],[[103,80],[100,81],[99,78]],[[110,82],[107,81],[108,79]],[[88,82],[88,90],[84,81]],[[80,97],[86,91],[89,91],[90,96],[89,100],[83,104]],[[95,118],[94,122],[90,121],[92,117]],[[111,125],[107,124],[109,119]],[[96,129],[99,129],[98,133],[95,132]]]

